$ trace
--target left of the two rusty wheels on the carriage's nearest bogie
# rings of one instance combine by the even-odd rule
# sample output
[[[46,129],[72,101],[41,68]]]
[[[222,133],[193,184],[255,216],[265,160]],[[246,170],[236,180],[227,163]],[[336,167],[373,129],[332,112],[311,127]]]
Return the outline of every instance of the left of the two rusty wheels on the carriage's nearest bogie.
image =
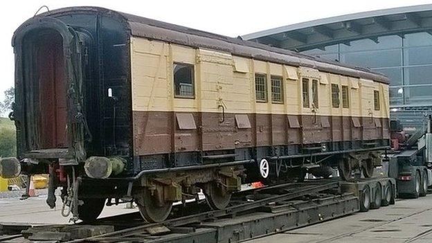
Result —
[[[159,205],[156,201],[156,197],[152,196],[150,191],[143,189],[142,203],[138,204],[138,209],[141,216],[147,222],[163,222],[171,213],[172,203],[166,202],[163,205]],[[141,205],[143,204],[143,205]]]

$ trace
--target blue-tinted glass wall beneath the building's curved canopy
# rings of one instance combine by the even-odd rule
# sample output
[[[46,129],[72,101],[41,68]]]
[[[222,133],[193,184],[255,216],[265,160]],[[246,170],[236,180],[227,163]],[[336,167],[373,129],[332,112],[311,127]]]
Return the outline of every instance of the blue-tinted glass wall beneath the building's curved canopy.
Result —
[[[368,67],[390,78],[390,106],[432,106],[432,35],[411,33],[359,39],[304,51],[328,60]]]

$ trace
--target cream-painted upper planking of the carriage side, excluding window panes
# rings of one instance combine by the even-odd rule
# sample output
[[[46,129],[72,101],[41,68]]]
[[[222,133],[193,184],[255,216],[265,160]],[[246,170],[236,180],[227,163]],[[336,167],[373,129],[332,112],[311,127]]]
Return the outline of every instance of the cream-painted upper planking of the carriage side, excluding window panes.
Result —
[[[174,98],[172,64],[193,64],[195,98]],[[132,109],[134,111],[205,111],[229,113],[314,114],[303,108],[301,82],[318,80],[317,115],[388,117],[388,85],[316,69],[252,60],[206,49],[131,37]],[[267,102],[255,102],[255,73],[267,75]],[[271,75],[282,77],[283,103],[271,102]],[[297,79],[296,79],[297,78]],[[331,84],[340,88],[340,108],[332,108]],[[350,109],[342,108],[341,85],[350,87]],[[373,110],[373,90],[380,91],[380,111]],[[366,105],[365,105],[366,104]]]

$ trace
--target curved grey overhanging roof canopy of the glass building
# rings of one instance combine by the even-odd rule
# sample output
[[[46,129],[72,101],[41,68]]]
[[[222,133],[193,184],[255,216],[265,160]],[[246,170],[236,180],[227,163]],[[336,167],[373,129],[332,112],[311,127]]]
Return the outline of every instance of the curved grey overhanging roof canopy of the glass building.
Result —
[[[383,35],[432,34],[432,4],[359,12],[282,26],[242,36],[280,48],[305,51],[357,39],[378,42]]]

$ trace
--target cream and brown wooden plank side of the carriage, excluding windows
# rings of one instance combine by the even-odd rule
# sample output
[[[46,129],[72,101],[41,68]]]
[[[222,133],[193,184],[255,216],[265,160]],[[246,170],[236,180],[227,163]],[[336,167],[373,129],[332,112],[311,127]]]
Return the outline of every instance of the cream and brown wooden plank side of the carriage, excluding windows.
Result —
[[[136,156],[389,137],[388,84],[138,37],[130,43]],[[194,65],[195,98],[174,98],[174,62]],[[267,102],[255,100],[255,73],[267,77]],[[271,102],[271,76],[282,77],[282,103]],[[318,107],[303,107],[303,78],[310,82],[309,102],[312,80],[318,81]],[[332,84],[339,86],[339,108],[332,107]],[[349,88],[348,108],[342,85]],[[181,129],[179,113],[191,114],[186,123],[192,117],[196,129]],[[239,126],[236,115],[250,127]]]

